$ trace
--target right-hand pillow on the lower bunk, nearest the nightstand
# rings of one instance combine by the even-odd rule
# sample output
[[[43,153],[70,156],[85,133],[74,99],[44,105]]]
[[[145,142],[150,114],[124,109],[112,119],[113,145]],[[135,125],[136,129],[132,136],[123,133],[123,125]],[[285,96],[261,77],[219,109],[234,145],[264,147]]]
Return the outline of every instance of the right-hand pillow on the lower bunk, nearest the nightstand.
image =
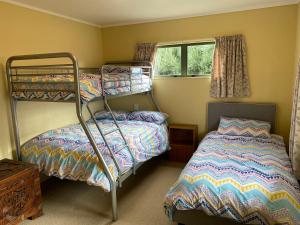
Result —
[[[156,123],[158,125],[164,123],[168,115],[166,113],[155,111],[136,111],[128,115],[129,120],[145,121],[150,123]]]

